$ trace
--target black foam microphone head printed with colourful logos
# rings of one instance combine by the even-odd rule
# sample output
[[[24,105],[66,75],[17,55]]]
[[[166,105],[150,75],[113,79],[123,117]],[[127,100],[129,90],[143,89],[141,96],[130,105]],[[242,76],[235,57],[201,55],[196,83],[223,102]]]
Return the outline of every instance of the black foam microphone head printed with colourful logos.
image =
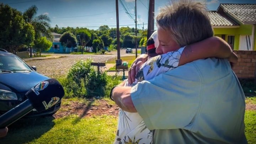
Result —
[[[48,79],[32,87],[26,94],[32,106],[38,111],[46,111],[64,96],[62,85],[55,79]]]

